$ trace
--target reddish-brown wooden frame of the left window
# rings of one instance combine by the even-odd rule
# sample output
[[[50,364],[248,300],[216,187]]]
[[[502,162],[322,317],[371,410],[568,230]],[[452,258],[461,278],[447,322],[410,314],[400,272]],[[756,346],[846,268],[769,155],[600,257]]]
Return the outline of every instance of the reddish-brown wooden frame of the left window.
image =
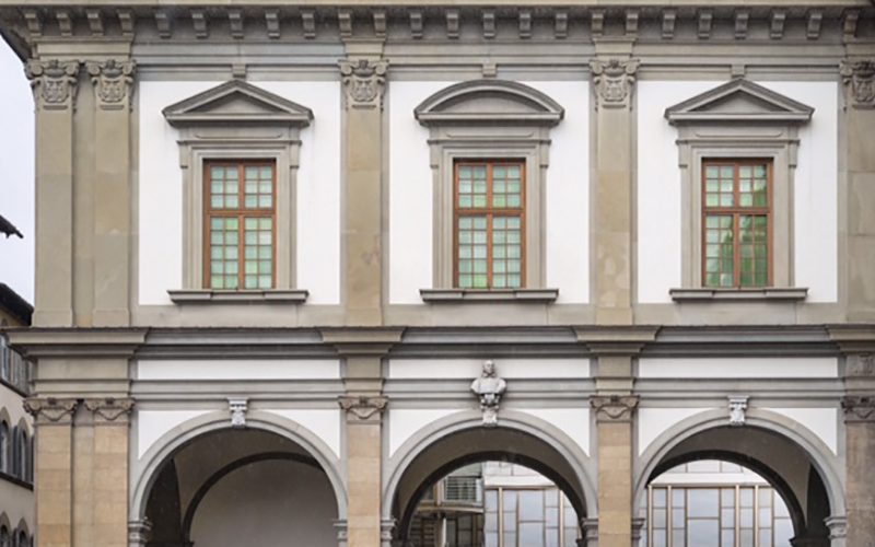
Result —
[[[236,209],[213,209],[212,208],[212,177],[211,167],[215,166],[236,166],[237,167],[237,207]],[[271,207],[269,210],[264,208],[247,209],[243,207],[245,203],[245,177],[244,172],[246,167],[253,166],[270,166],[271,167]],[[277,161],[273,159],[241,159],[241,160],[205,160],[203,161],[203,287],[209,290],[215,291],[264,291],[277,288]],[[210,266],[211,266],[211,251],[212,241],[210,237],[210,224],[213,217],[220,218],[236,218],[237,219],[237,288],[236,289],[213,289],[210,282]],[[244,220],[245,218],[269,218],[271,220],[270,237],[271,237],[271,258],[270,258],[270,288],[254,288],[246,289],[244,283],[245,278],[245,243],[244,243]]]

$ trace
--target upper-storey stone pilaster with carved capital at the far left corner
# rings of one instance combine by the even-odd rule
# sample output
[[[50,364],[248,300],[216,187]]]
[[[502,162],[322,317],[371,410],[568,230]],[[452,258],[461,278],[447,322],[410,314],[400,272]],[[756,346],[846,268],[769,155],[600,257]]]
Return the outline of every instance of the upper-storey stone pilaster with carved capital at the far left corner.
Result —
[[[79,61],[35,59],[25,72],[36,107],[36,310],[33,324],[72,326],[73,108]]]

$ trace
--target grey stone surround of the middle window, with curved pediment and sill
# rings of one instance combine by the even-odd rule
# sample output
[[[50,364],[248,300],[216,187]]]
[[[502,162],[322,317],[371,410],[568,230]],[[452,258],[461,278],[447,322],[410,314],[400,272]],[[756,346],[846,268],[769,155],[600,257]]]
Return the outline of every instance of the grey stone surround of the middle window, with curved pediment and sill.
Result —
[[[525,101],[544,112],[509,112],[478,104],[477,114],[443,113],[442,103],[462,104],[478,96]],[[466,95],[468,95],[466,97]],[[489,103],[487,103],[489,105]],[[502,107],[504,109],[502,109]],[[452,108],[452,106],[451,106]],[[415,110],[428,127],[433,179],[433,287],[420,289],[424,302],[553,302],[559,291],[542,287],[546,277],[542,230],[545,185],[549,166],[549,130],[562,116],[561,106],[526,85],[502,80],[475,80],[451,85],[427,98]],[[459,289],[453,279],[454,165],[458,160],[520,160],[525,164],[525,278],[526,287],[512,290]]]

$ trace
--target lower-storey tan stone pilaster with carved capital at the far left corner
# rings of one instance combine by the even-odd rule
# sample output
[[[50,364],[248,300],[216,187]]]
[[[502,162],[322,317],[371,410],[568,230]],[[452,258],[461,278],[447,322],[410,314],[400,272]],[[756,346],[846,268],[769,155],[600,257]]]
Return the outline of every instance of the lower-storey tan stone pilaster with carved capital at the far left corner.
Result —
[[[72,419],[78,406],[71,398],[24,401],[36,427],[34,490],[39,547],[73,545]]]

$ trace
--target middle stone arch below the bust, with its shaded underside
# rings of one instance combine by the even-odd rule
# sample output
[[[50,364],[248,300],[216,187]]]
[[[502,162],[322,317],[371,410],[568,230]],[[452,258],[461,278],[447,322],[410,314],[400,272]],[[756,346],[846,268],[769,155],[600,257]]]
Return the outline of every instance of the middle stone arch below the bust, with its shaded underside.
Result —
[[[482,446],[465,445],[466,449],[456,452],[452,458],[443,461],[440,465],[422,464],[427,469],[424,477],[417,479],[416,490],[406,500],[396,503],[400,496],[404,479],[412,479],[412,473],[418,472],[415,465],[420,465],[423,457],[433,454],[450,443],[463,439],[460,435],[487,435],[493,440],[508,439],[515,435],[526,445],[517,444],[513,451],[490,447],[487,443]],[[502,438],[501,435],[505,435]],[[549,467],[533,454],[536,451],[549,451],[557,468]],[[483,428],[482,414],[477,410],[465,410],[436,420],[417,431],[389,458],[387,479],[383,491],[383,517],[392,519],[394,513],[400,513],[399,529],[406,532],[416,509],[416,502],[423,491],[443,475],[466,463],[483,462],[488,459],[504,459],[512,456],[513,461],[541,473],[552,480],[568,496],[578,514],[595,516],[597,514],[597,494],[588,478],[586,466],[590,457],[565,433],[549,422],[532,415],[502,410],[499,426]],[[405,533],[402,532],[402,533]]]

